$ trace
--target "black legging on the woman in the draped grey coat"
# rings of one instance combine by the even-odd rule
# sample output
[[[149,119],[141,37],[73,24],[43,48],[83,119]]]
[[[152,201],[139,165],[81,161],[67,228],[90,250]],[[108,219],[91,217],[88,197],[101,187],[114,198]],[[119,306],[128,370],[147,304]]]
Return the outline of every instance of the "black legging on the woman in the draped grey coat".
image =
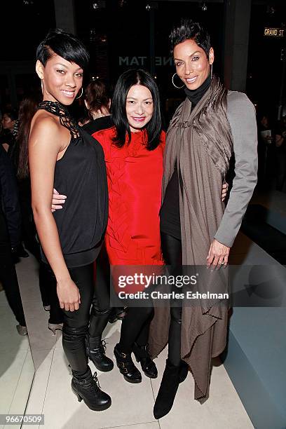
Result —
[[[170,275],[182,273],[182,241],[161,231],[161,247]],[[177,292],[177,291],[176,291]],[[181,361],[182,301],[171,301],[168,360],[178,366]]]

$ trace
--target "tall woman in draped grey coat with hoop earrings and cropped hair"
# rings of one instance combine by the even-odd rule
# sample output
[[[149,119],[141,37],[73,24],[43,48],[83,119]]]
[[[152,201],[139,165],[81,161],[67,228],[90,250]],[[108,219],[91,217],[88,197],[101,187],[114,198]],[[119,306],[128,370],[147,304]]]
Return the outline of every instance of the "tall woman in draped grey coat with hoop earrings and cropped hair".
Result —
[[[183,266],[228,264],[229,252],[257,183],[257,126],[253,104],[243,93],[228,91],[212,76],[214,50],[197,22],[182,21],[170,34],[177,71],[186,100],[178,107],[167,133],[164,154],[161,243],[170,274]],[[173,79],[175,75],[173,76]],[[179,78],[179,79],[178,79]],[[174,80],[173,80],[173,83]],[[230,158],[235,177],[224,207],[222,188]],[[222,290],[227,270],[203,270],[203,291]],[[202,280],[200,278],[200,280]],[[195,306],[171,302],[156,308],[150,331],[155,357],[168,343],[154,416],[172,408],[179,383],[191,370],[195,399],[207,399],[212,357],[226,346],[229,306],[213,299]]]

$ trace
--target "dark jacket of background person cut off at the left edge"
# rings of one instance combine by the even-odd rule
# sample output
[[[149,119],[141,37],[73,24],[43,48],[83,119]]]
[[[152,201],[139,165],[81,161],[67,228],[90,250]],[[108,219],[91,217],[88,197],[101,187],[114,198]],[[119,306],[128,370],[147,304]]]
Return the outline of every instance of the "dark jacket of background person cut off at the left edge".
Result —
[[[0,234],[6,227],[10,236],[11,246],[20,244],[21,213],[18,200],[18,188],[11,159],[0,146]],[[3,217],[4,214],[4,217]]]

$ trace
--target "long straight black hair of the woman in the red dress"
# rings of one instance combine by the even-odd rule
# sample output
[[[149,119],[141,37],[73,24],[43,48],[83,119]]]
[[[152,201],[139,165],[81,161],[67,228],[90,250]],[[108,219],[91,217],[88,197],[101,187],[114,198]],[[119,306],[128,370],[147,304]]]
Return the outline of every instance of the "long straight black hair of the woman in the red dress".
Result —
[[[146,147],[149,151],[151,151],[156,149],[160,143],[162,128],[160,98],[156,82],[152,78],[151,74],[142,69],[130,69],[124,71],[124,73],[119,76],[119,79],[114,88],[111,113],[111,117],[116,128],[114,144],[117,147],[123,147],[125,142],[129,144],[131,140],[131,131],[126,115],[126,98],[130,88],[137,84],[146,86],[146,88],[150,90],[153,99],[153,115],[145,127],[148,138]],[[128,139],[126,139],[126,133],[128,134]]]

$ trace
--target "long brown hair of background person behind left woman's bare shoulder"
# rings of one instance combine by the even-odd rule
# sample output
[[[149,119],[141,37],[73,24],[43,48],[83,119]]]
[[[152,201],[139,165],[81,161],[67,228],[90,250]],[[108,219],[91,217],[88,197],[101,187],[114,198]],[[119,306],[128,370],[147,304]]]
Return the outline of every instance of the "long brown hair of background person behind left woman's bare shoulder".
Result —
[[[36,113],[39,102],[41,101],[41,94],[33,94],[24,98],[20,103],[19,108],[19,129],[16,139],[18,146],[18,166],[17,177],[18,179],[27,179],[29,177],[29,161],[28,161],[28,142],[29,131],[32,118]]]

